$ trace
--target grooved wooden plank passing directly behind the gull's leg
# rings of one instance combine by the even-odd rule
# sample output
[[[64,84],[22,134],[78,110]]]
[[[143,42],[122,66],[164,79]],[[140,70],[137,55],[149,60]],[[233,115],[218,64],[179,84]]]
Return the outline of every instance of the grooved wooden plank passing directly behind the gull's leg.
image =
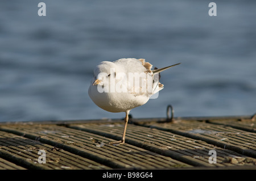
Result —
[[[67,124],[66,126],[115,140],[120,140],[123,132],[123,124]],[[126,142],[193,166],[225,167],[242,164],[254,165],[256,163],[256,159],[218,148],[204,141],[136,125],[128,125]],[[216,164],[209,163],[209,150],[217,151],[218,161]],[[243,162],[234,163],[236,159],[240,158]]]

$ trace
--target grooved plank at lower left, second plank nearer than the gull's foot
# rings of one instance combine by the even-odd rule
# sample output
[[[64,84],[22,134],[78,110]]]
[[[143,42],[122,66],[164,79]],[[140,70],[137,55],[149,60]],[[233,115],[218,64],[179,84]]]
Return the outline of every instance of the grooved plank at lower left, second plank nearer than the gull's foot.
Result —
[[[46,163],[38,162],[39,150],[46,151]],[[68,151],[1,131],[0,156],[27,169],[110,169]],[[5,168],[11,169],[7,166]]]

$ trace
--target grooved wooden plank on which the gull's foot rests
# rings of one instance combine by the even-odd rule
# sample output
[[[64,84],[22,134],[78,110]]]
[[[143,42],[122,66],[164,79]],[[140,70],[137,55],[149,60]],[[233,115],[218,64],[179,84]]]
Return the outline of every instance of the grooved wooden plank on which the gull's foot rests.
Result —
[[[57,125],[20,124],[2,126],[11,132],[62,148],[70,153],[92,159],[102,165],[117,169],[163,169],[189,167],[188,164],[170,157],[137,148],[132,145],[113,146],[113,139]]]

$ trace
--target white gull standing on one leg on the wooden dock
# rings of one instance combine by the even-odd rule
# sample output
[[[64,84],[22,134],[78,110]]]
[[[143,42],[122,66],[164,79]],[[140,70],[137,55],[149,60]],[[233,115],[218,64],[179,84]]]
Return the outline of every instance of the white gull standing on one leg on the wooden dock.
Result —
[[[121,58],[102,61],[94,68],[88,90],[90,99],[105,111],[126,113],[122,140],[110,144],[125,144],[130,111],[146,104],[152,95],[163,89],[159,82],[161,71],[179,64],[151,70],[152,65],[143,58]]]

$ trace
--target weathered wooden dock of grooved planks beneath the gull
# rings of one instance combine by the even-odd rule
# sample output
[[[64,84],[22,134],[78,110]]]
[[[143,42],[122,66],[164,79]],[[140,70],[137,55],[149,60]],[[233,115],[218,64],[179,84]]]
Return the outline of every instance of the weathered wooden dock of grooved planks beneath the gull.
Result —
[[[1,123],[0,169],[256,169],[255,116],[166,120]]]

